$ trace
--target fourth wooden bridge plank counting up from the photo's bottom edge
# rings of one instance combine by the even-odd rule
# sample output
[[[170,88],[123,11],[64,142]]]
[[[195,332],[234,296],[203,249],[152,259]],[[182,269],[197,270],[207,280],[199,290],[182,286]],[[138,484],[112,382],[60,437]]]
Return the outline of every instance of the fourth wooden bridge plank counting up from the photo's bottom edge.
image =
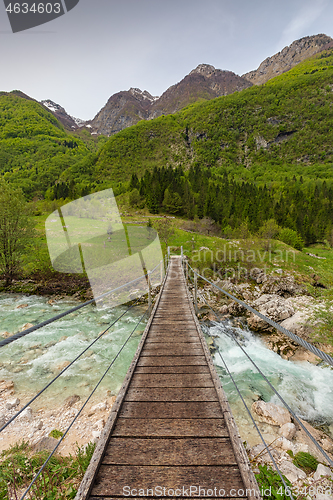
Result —
[[[119,412],[124,418],[223,418],[221,406],[216,402],[168,403],[124,401]]]

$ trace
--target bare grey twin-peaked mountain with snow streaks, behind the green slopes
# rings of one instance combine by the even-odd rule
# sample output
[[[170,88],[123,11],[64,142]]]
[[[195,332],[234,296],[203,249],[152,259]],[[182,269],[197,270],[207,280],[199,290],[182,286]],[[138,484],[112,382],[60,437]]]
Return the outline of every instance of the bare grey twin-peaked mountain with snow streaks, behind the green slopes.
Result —
[[[161,97],[153,97],[138,88],[114,94],[86,126],[92,133],[110,136],[140,120],[175,113],[198,100],[214,99],[251,85],[232,71],[200,64],[179,83],[169,87]]]

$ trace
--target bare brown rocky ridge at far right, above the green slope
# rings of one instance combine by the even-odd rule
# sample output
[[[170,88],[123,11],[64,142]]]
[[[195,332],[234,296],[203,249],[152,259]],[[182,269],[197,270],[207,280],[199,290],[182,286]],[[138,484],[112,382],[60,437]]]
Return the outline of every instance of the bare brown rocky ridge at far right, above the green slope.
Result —
[[[289,71],[305,59],[332,46],[333,39],[324,34],[300,38],[288,47],[284,47],[281,52],[274,54],[272,57],[267,57],[258,69],[245,73],[242,77],[254,85],[261,85],[274,78],[274,76]]]

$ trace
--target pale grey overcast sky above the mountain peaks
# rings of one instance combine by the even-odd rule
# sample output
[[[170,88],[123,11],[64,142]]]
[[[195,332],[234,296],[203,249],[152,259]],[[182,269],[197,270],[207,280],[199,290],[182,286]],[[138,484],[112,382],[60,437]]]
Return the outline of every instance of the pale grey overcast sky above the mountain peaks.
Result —
[[[80,0],[15,34],[0,2],[0,90],[83,119],[120,90],[161,95],[200,63],[241,75],[298,38],[333,37],[332,0]]]

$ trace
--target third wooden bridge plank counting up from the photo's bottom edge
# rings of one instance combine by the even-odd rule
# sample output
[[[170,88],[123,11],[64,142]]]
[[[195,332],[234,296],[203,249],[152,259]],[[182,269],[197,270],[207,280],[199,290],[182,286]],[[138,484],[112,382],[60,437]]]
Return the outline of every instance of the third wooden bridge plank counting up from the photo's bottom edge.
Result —
[[[119,417],[113,431],[115,437],[228,437],[222,419],[164,419]]]

